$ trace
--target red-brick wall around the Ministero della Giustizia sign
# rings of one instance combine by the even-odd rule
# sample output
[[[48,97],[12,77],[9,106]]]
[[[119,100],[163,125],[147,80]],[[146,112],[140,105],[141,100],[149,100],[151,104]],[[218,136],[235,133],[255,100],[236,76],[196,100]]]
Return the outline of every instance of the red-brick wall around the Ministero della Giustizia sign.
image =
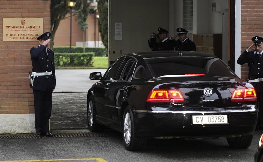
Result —
[[[3,18],[43,18],[43,32],[50,31],[50,0],[0,0],[0,4],[0,115],[34,113],[28,72],[30,49],[38,41],[3,41]]]

